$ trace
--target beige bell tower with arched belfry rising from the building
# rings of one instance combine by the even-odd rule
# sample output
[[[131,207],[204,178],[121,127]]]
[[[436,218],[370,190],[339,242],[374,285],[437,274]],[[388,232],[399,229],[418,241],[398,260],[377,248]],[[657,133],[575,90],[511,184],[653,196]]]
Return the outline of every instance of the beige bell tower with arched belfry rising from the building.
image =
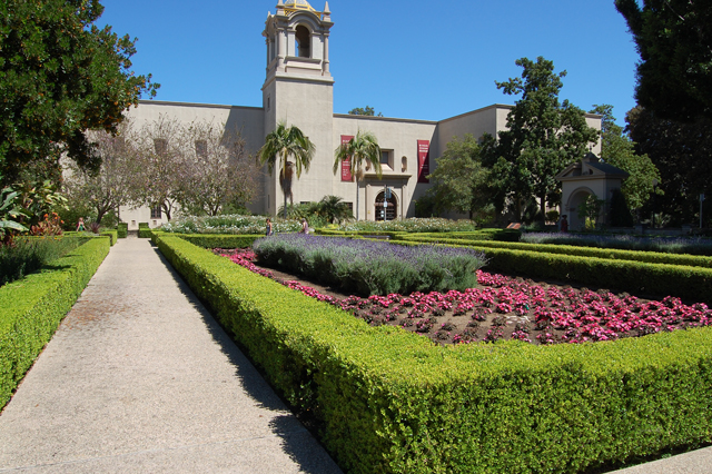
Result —
[[[295,203],[322,199],[324,196],[317,196],[317,190],[330,189],[333,179],[334,79],[329,71],[333,24],[328,2],[324,11],[317,11],[306,0],[279,0],[277,12],[267,14],[263,31],[267,46],[263,85],[265,134],[284,121],[288,127],[299,127],[316,146],[309,172],[293,185]],[[265,208],[270,214],[276,213],[283,198],[277,175],[267,177],[265,182]]]

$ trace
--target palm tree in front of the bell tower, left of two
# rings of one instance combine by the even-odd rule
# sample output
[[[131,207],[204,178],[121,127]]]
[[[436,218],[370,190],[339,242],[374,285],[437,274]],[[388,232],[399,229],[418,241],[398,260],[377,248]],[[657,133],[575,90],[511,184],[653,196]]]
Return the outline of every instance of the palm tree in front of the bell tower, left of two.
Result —
[[[275,165],[279,167],[279,186],[285,195],[285,219],[287,218],[287,196],[294,204],[291,195],[291,178],[296,172],[297,179],[301,176],[301,169],[309,170],[309,164],[316,147],[298,127],[288,127],[284,121],[277,124],[277,128],[265,138],[265,145],[257,152],[260,165],[267,164],[269,176]],[[294,162],[289,161],[294,157]]]

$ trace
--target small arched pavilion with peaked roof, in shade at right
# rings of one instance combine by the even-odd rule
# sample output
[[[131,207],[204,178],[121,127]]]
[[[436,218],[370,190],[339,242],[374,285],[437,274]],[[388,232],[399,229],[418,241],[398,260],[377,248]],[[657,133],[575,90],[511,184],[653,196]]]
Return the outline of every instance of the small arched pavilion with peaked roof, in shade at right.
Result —
[[[599,221],[607,224],[613,191],[621,189],[627,177],[626,171],[601,161],[591,151],[581,161],[568,165],[556,175],[556,180],[562,185],[561,214],[568,216],[568,228],[583,229],[585,221],[578,218],[577,209],[590,195],[605,200]]]

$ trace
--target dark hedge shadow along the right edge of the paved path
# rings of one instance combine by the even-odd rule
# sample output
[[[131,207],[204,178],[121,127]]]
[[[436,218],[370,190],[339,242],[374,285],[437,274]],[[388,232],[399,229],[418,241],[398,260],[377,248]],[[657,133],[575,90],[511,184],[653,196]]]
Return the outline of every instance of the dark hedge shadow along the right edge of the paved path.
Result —
[[[225,328],[215,319],[207,306],[190,289],[188,284],[164,257],[158,247],[151,244],[154,251],[170,273],[171,278],[178,285],[179,290],[186,296],[188,303],[200,314],[208,332],[219,345],[220,350],[235,367],[235,375],[239,378],[247,395],[260,407],[286,412],[287,404],[275,393],[265,381],[253,362],[240,350],[235,340]],[[299,465],[300,472],[307,474],[340,474],[342,471],[329,457],[318,440],[301,425],[294,414],[278,415],[269,424],[275,436],[281,441],[284,452]],[[315,453],[318,450],[319,453]]]

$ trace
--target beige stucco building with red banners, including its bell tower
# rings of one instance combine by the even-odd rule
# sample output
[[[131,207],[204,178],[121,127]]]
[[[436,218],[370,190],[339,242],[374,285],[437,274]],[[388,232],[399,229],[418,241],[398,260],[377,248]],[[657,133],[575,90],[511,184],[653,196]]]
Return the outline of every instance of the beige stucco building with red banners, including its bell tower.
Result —
[[[414,200],[431,186],[426,176],[433,171],[435,159],[447,142],[465,134],[496,135],[505,129],[511,106],[493,105],[438,121],[334,113],[334,78],[329,71],[333,24],[328,2],[323,11],[316,11],[306,0],[279,0],[276,12],[268,14],[263,32],[266,42],[263,107],[141,101],[130,110],[129,117],[138,125],[157,120],[161,115],[185,121],[225,121],[229,129],[241,129],[250,154],[257,152],[279,121],[297,126],[316,145],[316,154],[309,171],[293,185],[295,204],[335,195],[349,203],[354,210],[356,184],[348,169],[334,174],[334,150],[358,130],[370,131],[383,150],[383,178],[367,170],[359,181],[357,217],[383,219],[386,187],[392,189],[387,218],[413,217]],[[338,51],[335,57],[338,59]],[[589,126],[601,129],[600,116],[589,115],[586,120]],[[593,152],[600,154],[600,144]],[[269,176],[265,171],[259,196],[250,210],[275,215],[283,199],[278,172]],[[121,208],[120,214],[130,229],[141,221],[156,227],[166,220],[158,214],[151,217],[147,208]]]

